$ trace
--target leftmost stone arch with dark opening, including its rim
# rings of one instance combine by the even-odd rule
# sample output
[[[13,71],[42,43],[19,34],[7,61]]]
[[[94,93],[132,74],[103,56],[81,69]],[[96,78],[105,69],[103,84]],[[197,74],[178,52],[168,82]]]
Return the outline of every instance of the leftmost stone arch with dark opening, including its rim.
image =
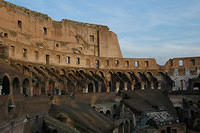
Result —
[[[8,74],[4,74],[3,80],[2,80],[2,95],[9,95],[11,93],[11,80],[10,76]]]

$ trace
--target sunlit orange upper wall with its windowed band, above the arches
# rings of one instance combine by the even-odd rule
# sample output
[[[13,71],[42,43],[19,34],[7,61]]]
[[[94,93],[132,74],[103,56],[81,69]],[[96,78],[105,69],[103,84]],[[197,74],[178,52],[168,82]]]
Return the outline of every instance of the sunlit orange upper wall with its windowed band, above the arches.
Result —
[[[50,65],[124,70],[200,66],[200,57],[170,59],[165,66],[159,66],[155,59],[122,58],[117,36],[107,26],[57,22],[3,0],[0,20],[0,41],[8,46],[1,51],[13,60],[46,64],[48,55]]]

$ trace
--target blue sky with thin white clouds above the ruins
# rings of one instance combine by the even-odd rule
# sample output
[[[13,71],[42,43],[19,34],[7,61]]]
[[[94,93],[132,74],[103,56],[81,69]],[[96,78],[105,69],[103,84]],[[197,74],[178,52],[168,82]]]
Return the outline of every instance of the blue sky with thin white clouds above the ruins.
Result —
[[[48,14],[108,25],[124,57],[200,56],[200,0],[7,0]]]

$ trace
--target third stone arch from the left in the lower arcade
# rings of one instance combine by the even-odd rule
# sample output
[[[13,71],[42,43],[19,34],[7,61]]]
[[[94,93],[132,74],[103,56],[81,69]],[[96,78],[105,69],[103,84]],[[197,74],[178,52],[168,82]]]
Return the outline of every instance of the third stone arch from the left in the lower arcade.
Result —
[[[22,92],[24,96],[31,96],[31,86],[30,86],[30,80],[28,78],[25,78],[22,83]]]

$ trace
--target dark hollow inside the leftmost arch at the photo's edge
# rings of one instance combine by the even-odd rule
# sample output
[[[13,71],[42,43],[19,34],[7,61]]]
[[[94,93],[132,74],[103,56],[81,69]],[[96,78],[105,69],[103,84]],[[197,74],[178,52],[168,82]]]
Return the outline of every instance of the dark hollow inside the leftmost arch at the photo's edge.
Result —
[[[2,84],[2,95],[9,95],[10,94],[10,81],[7,76],[3,77],[3,84]]]

